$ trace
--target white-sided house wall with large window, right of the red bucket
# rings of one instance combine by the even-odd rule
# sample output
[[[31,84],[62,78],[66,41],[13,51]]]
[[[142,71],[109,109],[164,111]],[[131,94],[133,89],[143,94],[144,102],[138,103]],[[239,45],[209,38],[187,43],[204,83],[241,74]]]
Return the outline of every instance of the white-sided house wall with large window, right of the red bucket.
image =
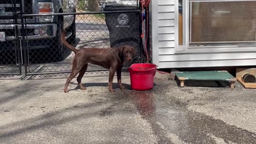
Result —
[[[254,0],[154,0],[148,53],[158,68],[255,66],[255,29]]]

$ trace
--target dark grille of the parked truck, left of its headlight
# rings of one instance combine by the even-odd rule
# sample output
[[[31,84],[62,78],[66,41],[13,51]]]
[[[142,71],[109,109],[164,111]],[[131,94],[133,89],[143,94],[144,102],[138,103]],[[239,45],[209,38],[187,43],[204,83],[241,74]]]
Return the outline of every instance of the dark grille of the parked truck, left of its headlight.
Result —
[[[0,0],[0,20],[13,19],[14,1],[16,1],[16,11],[21,11],[22,0]],[[24,0],[25,14],[33,14],[33,0]]]

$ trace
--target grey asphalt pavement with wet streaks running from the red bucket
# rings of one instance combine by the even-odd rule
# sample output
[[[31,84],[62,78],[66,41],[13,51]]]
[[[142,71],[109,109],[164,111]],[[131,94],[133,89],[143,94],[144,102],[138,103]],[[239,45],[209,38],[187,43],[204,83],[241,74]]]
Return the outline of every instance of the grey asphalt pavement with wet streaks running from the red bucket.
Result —
[[[122,81],[127,89],[110,93],[108,76],[84,77],[85,91],[73,79],[63,93],[65,78],[1,80],[0,143],[256,143],[256,90],[155,79],[134,91],[127,73]]]

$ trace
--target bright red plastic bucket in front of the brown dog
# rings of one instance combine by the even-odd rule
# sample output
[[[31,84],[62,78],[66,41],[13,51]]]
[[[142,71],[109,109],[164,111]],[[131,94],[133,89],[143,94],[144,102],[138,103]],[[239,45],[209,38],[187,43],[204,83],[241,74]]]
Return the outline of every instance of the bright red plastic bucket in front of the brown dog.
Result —
[[[131,65],[128,70],[133,90],[151,90],[154,86],[156,65],[152,63],[136,63]]]

